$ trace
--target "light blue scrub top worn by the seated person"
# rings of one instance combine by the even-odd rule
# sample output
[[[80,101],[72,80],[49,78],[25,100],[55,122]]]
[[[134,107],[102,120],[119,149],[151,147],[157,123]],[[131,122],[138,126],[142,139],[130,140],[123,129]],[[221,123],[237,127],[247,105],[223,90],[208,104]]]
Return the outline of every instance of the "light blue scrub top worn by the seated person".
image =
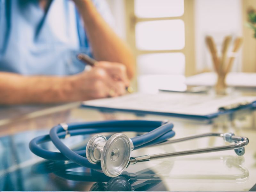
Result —
[[[104,0],[92,0],[113,26]],[[92,56],[83,21],[71,0],[0,0],[0,71],[22,75],[73,75],[84,70],[80,52]]]

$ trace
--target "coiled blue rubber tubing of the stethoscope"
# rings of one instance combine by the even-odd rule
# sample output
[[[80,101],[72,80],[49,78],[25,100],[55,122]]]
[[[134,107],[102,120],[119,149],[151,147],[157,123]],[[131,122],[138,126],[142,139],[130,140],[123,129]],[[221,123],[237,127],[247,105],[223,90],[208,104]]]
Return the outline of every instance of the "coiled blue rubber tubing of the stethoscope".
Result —
[[[87,128],[86,128],[87,127]],[[158,128],[156,128],[158,127]],[[68,124],[68,133],[71,136],[81,134],[92,134],[100,132],[148,132],[144,135],[132,138],[134,149],[142,148],[148,145],[164,142],[173,137],[175,132],[172,131],[173,124],[164,124],[161,121],[147,120],[124,120],[124,121],[102,121],[102,122],[86,122]],[[100,169],[100,164],[91,164],[85,156],[85,151],[72,151],[60,139],[66,136],[66,131],[61,125],[53,127],[49,135],[39,136],[31,140],[29,143],[30,150],[37,156],[49,160],[71,160],[81,166],[92,169]],[[60,150],[52,152],[42,149],[38,144],[52,141]]]

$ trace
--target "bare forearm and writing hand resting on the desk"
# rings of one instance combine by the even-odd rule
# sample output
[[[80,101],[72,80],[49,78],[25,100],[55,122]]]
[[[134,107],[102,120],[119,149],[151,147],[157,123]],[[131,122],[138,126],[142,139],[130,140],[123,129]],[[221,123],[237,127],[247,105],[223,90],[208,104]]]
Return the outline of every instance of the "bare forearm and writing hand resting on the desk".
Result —
[[[114,75],[118,73],[120,80]],[[0,105],[58,103],[116,97],[125,93],[127,76],[120,63],[99,61],[81,73],[58,76],[22,76],[0,71]],[[115,90],[110,94],[111,90]]]

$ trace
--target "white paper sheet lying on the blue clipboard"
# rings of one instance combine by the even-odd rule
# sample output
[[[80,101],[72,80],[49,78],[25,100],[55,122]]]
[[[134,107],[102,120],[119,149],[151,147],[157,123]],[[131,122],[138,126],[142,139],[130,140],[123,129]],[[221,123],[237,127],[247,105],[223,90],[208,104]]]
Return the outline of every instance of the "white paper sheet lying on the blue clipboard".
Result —
[[[116,98],[84,101],[84,105],[115,109],[142,110],[185,115],[206,116],[218,112],[223,106],[253,102],[250,96],[214,96],[189,93],[133,93]]]

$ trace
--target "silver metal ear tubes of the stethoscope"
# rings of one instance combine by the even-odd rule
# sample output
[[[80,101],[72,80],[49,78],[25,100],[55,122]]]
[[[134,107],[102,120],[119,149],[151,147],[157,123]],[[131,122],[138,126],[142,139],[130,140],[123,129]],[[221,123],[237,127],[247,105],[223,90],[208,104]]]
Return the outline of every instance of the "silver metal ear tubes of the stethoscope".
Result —
[[[180,139],[176,139],[176,140],[166,141],[161,144],[163,145],[163,144],[176,143],[176,142],[180,142],[180,141],[196,139],[196,138],[200,138],[200,137],[207,137],[207,136],[220,136],[220,137],[223,137],[224,140],[228,141],[228,139],[225,138],[225,134],[223,134],[223,133],[206,133],[206,134],[200,134],[200,135],[189,136],[189,137],[180,138]],[[144,161],[150,161],[153,159],[161,159],[161,158],[167,158],[167,157],[186,156],[186,155],[193,155],[193,154],[200,154],[200,153],[209,153],[209,152],[216,152],[216,151],[238,149],[238,148],[243,148],[244,146],[246,146],[249,143],[249,140],[247,137],[240,137],[240,136],[233,135],[233,136],[230,136],[229,142],[231,140],[236,143],[230,144],[230,145],[224,145],[224,146],[217,146],[217,147],[198,148],[198,149],[191,149],[191,150],[184,150],[184,151],[177,151],[177,152],[158,153],[158,154],[153,154],[153,155],[131,157],[129,164],[135,164],[137,162],[144,162]],[[241,154],[241,155],[243,155],[243,154]]]

